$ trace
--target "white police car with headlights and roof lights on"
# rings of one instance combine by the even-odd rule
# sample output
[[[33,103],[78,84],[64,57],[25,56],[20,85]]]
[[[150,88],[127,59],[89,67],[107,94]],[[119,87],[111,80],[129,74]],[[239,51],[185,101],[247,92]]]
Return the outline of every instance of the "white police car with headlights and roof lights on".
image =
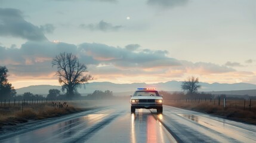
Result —
[[[163,112],[163,98],[155,88],[138,88],[131,96],[131,113],[135,113],[136,108],[154,108],[158,113]]]

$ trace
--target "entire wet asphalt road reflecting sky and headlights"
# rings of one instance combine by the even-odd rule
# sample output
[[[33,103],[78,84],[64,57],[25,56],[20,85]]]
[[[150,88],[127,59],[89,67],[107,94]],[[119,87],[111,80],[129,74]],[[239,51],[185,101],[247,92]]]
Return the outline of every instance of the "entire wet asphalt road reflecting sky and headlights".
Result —
[[[256,142],[256,126],[164,106],[163,114],[129,104],[1,130],[0,142]]]

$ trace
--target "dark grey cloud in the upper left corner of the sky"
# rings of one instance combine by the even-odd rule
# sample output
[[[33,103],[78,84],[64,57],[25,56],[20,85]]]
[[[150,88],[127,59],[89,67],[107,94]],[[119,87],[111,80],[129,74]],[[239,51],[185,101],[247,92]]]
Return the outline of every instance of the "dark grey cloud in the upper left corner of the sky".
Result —
[[[47,41],[38,26],[24,20],[21,11],[13,8],[0,8],[0,36]]]

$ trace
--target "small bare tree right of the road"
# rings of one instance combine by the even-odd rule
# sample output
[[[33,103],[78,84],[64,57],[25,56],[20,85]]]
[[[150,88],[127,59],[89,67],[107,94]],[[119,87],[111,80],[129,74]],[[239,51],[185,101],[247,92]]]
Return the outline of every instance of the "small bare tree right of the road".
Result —
[[[198,89],[201,88],[201,85],[198,85],[198,83],[198,77],[188,77],[186,81],[182,82],[181,89],[183,89],[183,91],[187,91],[188,94],[195,94]]]

